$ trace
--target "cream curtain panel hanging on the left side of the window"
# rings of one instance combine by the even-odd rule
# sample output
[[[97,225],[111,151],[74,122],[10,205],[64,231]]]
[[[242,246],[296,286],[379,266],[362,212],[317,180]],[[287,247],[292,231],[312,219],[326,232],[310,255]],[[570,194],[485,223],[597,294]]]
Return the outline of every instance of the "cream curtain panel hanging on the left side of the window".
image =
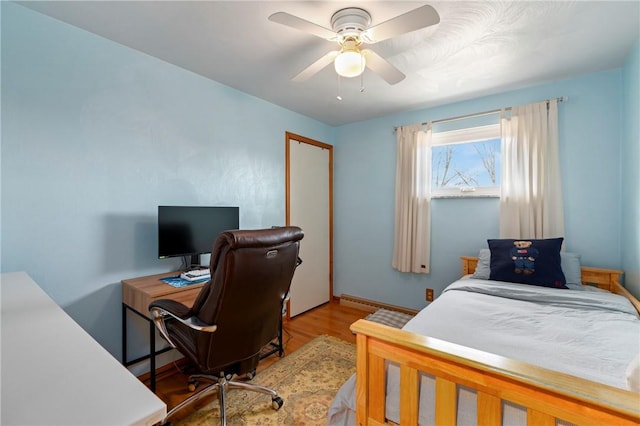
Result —
[[[431,124],[396,130],[395,236],[392,266],[429,272],[431,217]]]

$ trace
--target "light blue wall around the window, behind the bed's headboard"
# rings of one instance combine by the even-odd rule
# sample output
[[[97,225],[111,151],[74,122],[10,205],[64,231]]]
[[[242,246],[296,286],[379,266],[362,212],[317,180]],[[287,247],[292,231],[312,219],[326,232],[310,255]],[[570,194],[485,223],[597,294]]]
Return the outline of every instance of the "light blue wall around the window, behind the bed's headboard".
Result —
[[[566,247],[583,264],[620,268],[621,70],[576,77],[438,108],[338,128],[335,148],[334,293],[421,308],[425,288],[460,275],[459,256],[498,237],[497,199],[432,201],[431,273],[391,268],[394,126],[520,105],[559,96]]]

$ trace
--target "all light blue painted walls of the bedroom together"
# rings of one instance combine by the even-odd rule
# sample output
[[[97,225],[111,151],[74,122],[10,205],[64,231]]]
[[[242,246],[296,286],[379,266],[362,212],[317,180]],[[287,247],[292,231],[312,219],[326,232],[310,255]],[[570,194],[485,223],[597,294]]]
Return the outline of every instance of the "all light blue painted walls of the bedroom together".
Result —
[[[177,267],[156,259],[156,206],[239,205],[242,227],[284,223],[287,130],[335,145],[334,294],[424,306],[425,287],[439,294],[459,276],[458,256],[497,237],[498,202],[434,200],[432,273],[394,271],[393,127],[557,96],[569,97],[559,107],[567,248],[584,264],[635,271],[638,293],[640,196],[628,184],[640,159],[638,47],[621,70],[331,128],[1,8],[1,270],[29,272],[116,357],[120,280]],[[132,355],[146,332],[132,321]]]

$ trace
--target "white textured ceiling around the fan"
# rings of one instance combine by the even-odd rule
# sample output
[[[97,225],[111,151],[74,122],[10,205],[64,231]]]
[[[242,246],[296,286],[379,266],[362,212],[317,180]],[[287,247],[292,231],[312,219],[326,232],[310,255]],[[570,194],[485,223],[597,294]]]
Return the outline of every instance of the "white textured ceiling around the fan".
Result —
[[[330,125],[621,67],[640,39],[639,1],[28,1],[21,4]],[[269,21],[284,11],[331,28],[361,7],[372,25],[424,4],[440,23],[368,46],[406,74],[396,85],[332,66],[290,78],[336,44]]]

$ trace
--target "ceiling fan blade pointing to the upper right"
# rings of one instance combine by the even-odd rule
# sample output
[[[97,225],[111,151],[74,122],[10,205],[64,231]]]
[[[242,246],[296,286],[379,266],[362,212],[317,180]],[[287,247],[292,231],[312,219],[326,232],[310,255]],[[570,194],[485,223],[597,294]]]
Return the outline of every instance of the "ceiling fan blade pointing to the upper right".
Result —
[[[377,43],[439,22],[440,15],[427,4],[367,29],[363,33],[363,40],[369,44]]]

